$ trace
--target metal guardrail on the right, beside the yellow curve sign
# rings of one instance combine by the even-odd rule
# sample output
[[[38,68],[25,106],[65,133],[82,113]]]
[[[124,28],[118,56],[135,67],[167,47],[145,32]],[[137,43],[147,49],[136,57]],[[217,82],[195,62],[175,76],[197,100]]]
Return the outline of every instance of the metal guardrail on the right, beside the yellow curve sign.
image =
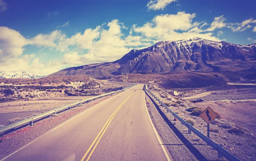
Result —
[[[180,118],[176,113],[174,113],[169,107],[164,105],[163,102],[160,101],[156,96],[154,96],[153,93],[151,93],[150,90],[147,89],[147,85],[145,84],[144,89],[146,93],[151,94],[163,107],[166,108],[167,112],[172,113],[172,115],[179,120],[183,125],[185,125],[189,130],[191,130],[195,135],[197,135],[199,138],[201,138],[204,142],[206,142],[209,146],[211,146],[213,149],[215,149],[220,155],[224,156],[229,161],[239,161],[238,158],[236,158],[234,155],[229,153],[227,150],[224,150],[221,146],[216,144],[214,141],[212,141],[210,138],[202,134],[200,131],[198,131],[195,127],[193,127],[191,124]],[[148,95],[149,95],[148,94]]]

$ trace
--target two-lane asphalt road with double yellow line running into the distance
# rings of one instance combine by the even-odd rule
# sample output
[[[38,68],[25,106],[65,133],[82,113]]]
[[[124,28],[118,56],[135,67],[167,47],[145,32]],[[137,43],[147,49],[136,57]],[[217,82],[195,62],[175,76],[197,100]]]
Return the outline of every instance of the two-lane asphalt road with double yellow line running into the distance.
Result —
[[[169,160],[159,140],[143,85],[137,85],[48,130],[4,161]]]

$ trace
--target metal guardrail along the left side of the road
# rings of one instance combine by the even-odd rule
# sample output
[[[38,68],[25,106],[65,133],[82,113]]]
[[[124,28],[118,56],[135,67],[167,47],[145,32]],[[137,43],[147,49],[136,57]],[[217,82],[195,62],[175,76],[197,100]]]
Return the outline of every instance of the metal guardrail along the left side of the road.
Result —
[[[60,111],[62,111],[62,110],[65,110],[66,108],[69,108],[69,109],[70,109],[71,107],[75,107],[76,105],[79,105],[79,104],[81,105],[81,104],[83,104],[83,103],[85,103],[85,102],[89,102],[89,101],[91,101],[91,100],[95,100],[95,99],[98,99],[98,98],[101,98],[101,97],[104,97],[104,96],[108,96],[108,95],[111,95],[111,94],[114,94],[114,93],[118,93],[118,92],[121,92],[121,91],[125,91],[125,90],[127,90],[127,89],[129,89],[129,88],[134,87],[135,85],[137,85],[137,84],[127,86],[127,87],[125,87],[125,89],[122,89],[122,90],[117,90],[117,91],[113,91],[113,92],[110,92],[110,93],[105,93],[105,94],[102,94],[102,95],[99,95],[99,96],[94,96],[94,97],[91,97],[91,98],[88,98],[88,99],[83,99],[83,100],[81,100],[81,101],[79,101],[79,102],[74,102],[74,103],[69,104],[69,105],[65,105],[65,106],[62,106],[62,107],[58,107],[58,108],[56,108],[56,109],[47,111],[47,112],[42,113],[42,114],[40,114],[40,115],[32,116],[32,117],[30,117],[30,118],[28,118],[28,119],[24,119],[24,120],[15,122],[15,123],[13,123],[13,124],[9,124],[9,125],[0,127],[0,133],[3,133],[3,132],[5,132],[5,131],[7,131],[7,130],[11,130],[11,129],[15,128],[15,127],[19,127],[20,125],[23,125],[23,124],[28,124],[28,123],[30,123],[31,125],[33,125],[33,121],[36,121],[36,120],[41,119],[41,118],[44,118],[44,117],[46,117],[46,116],[55,114],[55,113],[57,113],[57,112],[60,112]]]

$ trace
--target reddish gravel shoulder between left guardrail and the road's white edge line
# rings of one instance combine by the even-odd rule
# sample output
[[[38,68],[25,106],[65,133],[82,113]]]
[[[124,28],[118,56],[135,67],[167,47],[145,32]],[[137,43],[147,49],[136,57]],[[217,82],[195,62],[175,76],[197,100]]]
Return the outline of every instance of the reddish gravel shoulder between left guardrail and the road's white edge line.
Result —
[[[118,93],[116,93],[118,94]],[[114,94],[114,95],[116,95]],[[113,95],[113,96],[114,96]],[[96,99],[95,101],[91,101],[89,103],[85,103],[82,106],[73,107],[71,110],[65,110],[61,113],[56,114],[56,116],[50,116],[40,121],[34,123],[31,126],[24,126],[21,128],[17,128],[17,130],[7,133],[5,135],[0,135],[0,157],[6,155],[6,153],[14,150],[16,147],[19,147],[26,142],[30,141],[32,138],[39,136],[40,134],[46,132],[52,127],[61,124],[63,121],[75,116],[83,110],[96,105],[99,102],[102,102],[105,99],[110,98],[111,96],[102,97],[100,99]]]

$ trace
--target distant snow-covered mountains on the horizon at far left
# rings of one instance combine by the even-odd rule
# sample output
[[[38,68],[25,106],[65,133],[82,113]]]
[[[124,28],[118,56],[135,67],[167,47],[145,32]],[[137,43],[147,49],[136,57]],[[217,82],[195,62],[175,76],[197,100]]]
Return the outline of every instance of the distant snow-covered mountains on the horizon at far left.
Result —
[[[0,78],[26,78],[26,79],[38,79],[44,76],[36,76],[35,74],[27,73],[26,71],[23,72],[7,72],[7,71],[0,71]]]

